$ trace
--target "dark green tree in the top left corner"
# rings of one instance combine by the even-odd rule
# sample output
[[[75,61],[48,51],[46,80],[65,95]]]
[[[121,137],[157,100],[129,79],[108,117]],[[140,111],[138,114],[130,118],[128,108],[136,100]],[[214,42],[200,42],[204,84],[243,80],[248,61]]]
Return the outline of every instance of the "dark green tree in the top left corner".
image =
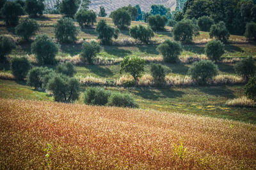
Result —
[[[7,1],[1,9],[6,25],[15,26],[19,24],[19,16],[24,15],[24,10],[19,3]]]

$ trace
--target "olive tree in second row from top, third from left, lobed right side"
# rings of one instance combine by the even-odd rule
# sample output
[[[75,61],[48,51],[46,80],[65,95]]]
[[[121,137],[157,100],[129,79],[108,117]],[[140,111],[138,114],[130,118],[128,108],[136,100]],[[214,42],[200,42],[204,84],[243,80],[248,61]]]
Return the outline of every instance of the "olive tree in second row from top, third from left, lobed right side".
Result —
[[[106,24],[106,20],[100,20],[96,26],[95,31],[98,34],[102,44],[108,45],[111,43],[112,38],[118,38],[119,30]]]

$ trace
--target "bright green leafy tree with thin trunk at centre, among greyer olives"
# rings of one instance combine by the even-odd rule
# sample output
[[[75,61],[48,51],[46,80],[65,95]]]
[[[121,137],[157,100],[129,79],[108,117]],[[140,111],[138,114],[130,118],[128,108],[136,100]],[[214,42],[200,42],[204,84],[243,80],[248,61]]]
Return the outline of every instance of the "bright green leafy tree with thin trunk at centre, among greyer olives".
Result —
[[[137,81],[144,71],[145,60],[140,57],[125,57],[120,66],[120,73],[122,71],[129,73],[134,78],[134,81]]]

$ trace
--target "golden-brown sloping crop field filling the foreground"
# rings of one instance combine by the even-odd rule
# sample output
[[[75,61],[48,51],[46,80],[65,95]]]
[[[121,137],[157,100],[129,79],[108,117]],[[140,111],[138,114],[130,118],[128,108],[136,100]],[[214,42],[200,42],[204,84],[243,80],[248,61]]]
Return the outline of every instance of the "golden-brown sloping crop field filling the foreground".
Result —
[[[0,169],[255,169],[256,126],[0,99]]]

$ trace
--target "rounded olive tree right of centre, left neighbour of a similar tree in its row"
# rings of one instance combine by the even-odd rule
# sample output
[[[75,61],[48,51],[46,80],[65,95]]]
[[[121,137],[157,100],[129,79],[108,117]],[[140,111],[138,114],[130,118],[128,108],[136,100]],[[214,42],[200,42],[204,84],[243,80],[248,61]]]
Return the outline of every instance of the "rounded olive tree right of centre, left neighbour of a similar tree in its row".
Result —
[[[178,62],[182,47],[179,43],[166,39],[157,46],[157,51],[163,55],[164,62]]]

